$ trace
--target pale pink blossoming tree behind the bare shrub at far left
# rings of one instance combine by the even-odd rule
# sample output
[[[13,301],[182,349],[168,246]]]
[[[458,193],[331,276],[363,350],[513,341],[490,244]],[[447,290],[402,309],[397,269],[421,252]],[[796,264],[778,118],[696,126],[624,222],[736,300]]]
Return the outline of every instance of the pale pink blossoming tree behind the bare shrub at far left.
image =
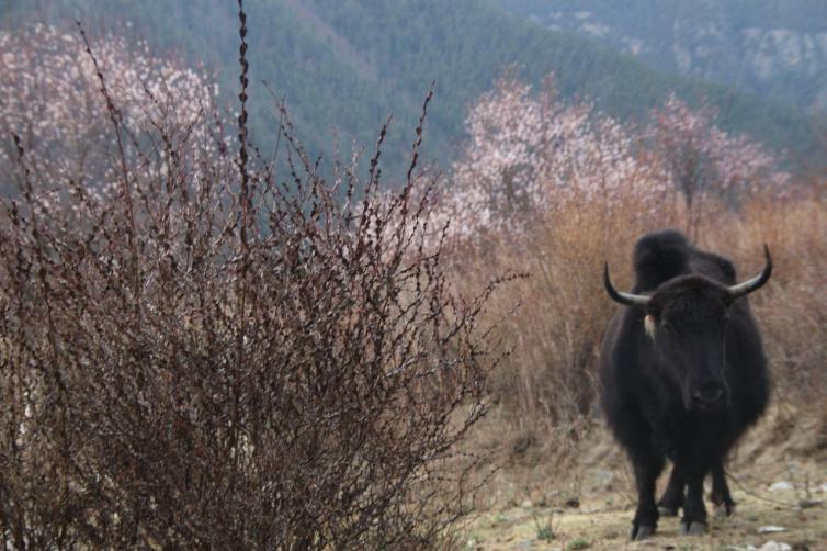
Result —
[[[105,36],[92,42],[93,60],[79,31],[38,24],[1,32],[0,52],[0,191],[9,192],[21,175],[12,135],[37,160],[31,167],[37,181],[48,182],[38,190],[44,205],[46,195],[72,190],[111,193],[122,153],[147,175],[168,172],[169,162],[182,159],[197,165],[213,147],[217,87],[154,56],[145,43]],[[137,158],[137,144],[146,146],[150,134],[165,138],[151,144],[152,157]],[[192,155],[180,155],[184,144]],[[177,159],[169,158],[173,150]]]

